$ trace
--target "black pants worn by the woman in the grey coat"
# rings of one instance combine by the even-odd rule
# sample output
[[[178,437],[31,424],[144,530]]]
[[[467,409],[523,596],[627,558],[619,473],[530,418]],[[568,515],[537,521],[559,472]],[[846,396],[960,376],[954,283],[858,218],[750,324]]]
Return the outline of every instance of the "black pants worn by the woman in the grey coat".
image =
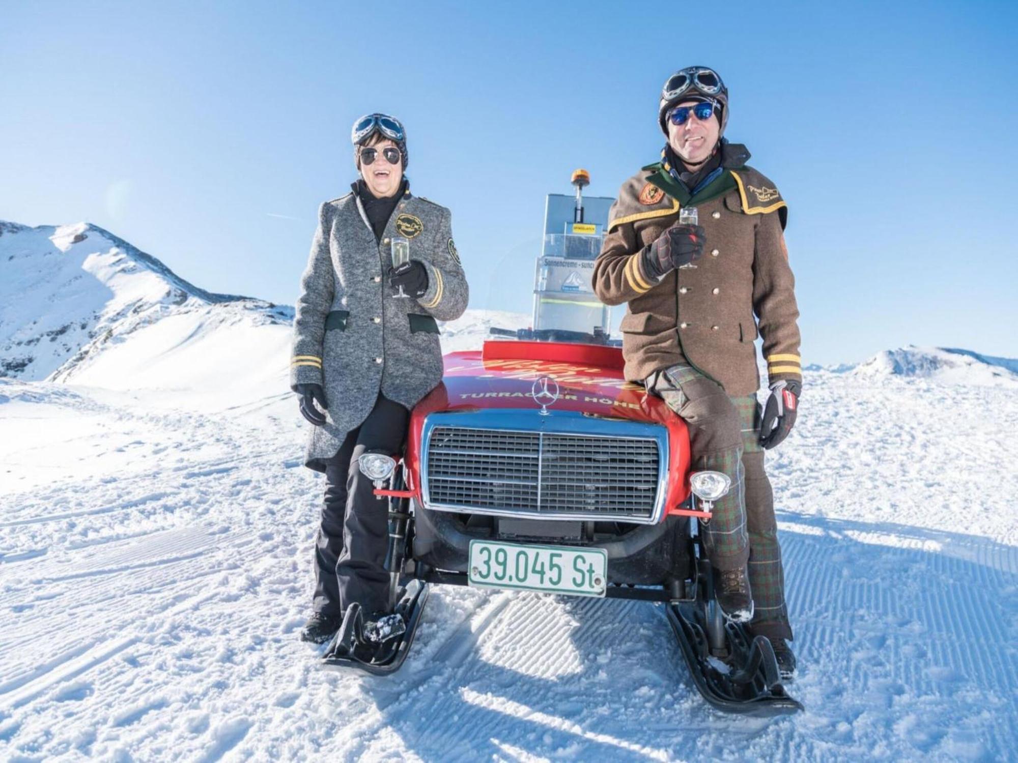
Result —
[[[346,435],[339,453],[325,462],[325,502],[315,543],[315,611],[342,614],[356,601],[374,612],[389,605],[389,502],[360,473],[364,453],[396,456],[402,451],[410,413],[382,395],[363,423]]]

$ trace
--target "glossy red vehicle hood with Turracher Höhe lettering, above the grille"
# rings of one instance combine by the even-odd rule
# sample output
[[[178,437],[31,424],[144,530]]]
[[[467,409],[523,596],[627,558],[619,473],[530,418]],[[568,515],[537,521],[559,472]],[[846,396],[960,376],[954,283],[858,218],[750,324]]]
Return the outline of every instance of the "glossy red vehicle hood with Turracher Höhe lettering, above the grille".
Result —
[[[417,488],[418,454],[425,417],[436,411],[482,408],[540,408],[530,395],[535,379],[551,376],[559,399],[549,411],[580,411],[609,418],[668,427],[671,474],[668,506],[688,495],[689,439],[685,422],[640,385],[622,374],[622,351],[616,347],[554,342],[486,342],[480,352],[444,357],[442,384],[413,409],[407,461]],[[683,489],[685,488],[685,489]]]

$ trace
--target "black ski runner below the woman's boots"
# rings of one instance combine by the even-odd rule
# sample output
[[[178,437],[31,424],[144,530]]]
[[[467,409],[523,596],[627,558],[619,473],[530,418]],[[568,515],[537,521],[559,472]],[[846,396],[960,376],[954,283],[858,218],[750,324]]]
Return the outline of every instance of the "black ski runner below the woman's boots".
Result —
[[[357,604],[351,604],[333,640],[329,642],[322,661],[327,665],[350,667],[375,676],[396,672],[410,653],[410,645],[420,624],[420,614],[428,602],[429,586],[411,580],[403,591],[396,611],[406,621],[406,631],[399,638],[375,644],[364,638],[363,615]]]

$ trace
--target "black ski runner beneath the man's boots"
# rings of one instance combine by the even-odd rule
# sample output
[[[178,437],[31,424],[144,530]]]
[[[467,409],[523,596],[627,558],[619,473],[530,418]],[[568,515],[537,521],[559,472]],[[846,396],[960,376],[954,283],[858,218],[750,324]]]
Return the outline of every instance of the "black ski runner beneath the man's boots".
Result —
[[[802,709],[785,692],[774,649],[764,636],[752,638],[745,626],[725,623],[729,656],[722,661],[711,654],[708,625],[696,602],[670,602],[665,611],[696,689],[716,708],[756,717]]]

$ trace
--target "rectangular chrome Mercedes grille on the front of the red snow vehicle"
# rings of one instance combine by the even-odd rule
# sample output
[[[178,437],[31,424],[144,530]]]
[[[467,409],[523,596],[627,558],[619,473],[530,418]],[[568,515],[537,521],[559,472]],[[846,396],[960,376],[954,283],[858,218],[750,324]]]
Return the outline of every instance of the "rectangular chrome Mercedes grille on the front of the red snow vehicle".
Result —
[[[441,508],[649,520],[658,504],[654,438],[435,426],[426,448]]]

